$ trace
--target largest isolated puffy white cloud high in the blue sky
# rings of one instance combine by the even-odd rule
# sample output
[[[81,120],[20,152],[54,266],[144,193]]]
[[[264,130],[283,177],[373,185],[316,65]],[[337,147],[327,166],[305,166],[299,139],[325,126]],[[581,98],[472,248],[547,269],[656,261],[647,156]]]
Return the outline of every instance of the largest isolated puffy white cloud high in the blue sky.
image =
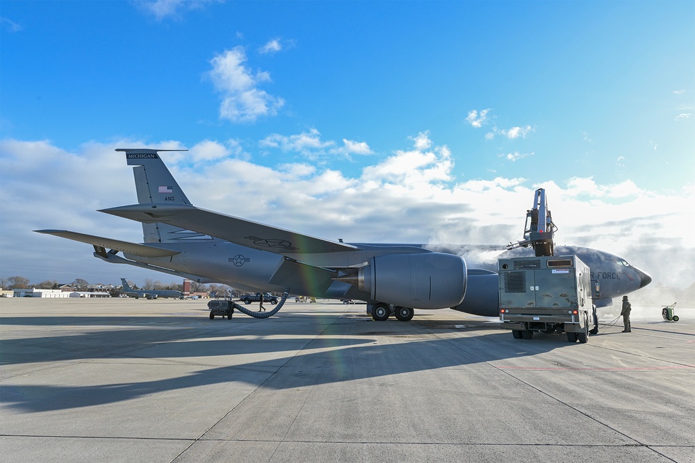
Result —
[[[215,88],[222,93],[220,117],[232,122],[253,122],[259,117],[275,116],[284,106],[284,99],[259,89],[259,84],[270,81],[266,71],[252,71],[245,66],[247,60],[243,47],[215,56],[213,69],[208,72]]]

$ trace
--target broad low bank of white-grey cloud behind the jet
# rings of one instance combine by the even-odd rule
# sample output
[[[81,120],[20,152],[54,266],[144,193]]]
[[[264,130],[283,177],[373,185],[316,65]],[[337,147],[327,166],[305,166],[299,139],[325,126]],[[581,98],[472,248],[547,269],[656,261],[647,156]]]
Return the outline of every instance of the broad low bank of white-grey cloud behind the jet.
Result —
[[[274,143],[326,143],[318,132],[304,135]],[[304,160],[275,168],[256,165],[236,156],[235,142],[203,140],[188,153],[161,155],[188,199],[201,208],[346,242],[507,244],[521,238],[533,192],[543,187],[559,226],[558,244],[620,255],[651,273],[654,285],[693,283],[693,185],[657,193],[630,180],[605,185],[579,177],[536,185],[500,176],[456,183],[450,150],[423,141],[414,137],[410,149],[375,158],[355,176]],[[126,146],[180,149],[182,144],[121,140],[67,151],[48,141],[0,141],[0,276],[22,275],[32,282],[174,279],[104,264],[86,244],[31,232],[65,228],[140,242],[139,224],[95,211],[137,201],[131,168],[123,153],[113,151]]]

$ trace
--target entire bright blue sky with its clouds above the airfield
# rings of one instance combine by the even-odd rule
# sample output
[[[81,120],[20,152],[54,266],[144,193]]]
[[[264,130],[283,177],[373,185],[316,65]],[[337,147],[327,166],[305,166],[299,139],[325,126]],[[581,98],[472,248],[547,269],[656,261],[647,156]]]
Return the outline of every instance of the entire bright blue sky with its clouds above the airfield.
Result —
[[[148,146],[191,150],[165,160],[195,205],[354,242],[516,240],[546,187],[560,242],[693,281],[693,1],[3,0],[0,16],[1,276],[117,283],[86,245],[28,230],[140,241],[95,209],[134,202],[113,149]],[[650,254],[682,249],[678,271]]]

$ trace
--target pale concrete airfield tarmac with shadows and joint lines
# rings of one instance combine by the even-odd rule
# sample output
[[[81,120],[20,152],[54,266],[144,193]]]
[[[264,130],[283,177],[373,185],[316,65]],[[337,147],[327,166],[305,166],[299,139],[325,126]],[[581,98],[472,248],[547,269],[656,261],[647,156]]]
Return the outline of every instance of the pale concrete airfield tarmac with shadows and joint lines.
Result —
[[[453,310],[2,299],[0,461],[695,462],[695,310],[633,313],[570,344]]]

